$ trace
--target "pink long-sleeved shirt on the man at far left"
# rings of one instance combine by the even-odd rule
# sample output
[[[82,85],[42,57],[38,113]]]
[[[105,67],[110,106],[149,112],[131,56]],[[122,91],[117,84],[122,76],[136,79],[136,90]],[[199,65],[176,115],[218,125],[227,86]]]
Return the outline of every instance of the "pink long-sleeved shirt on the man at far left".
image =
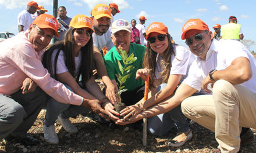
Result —
[[[28,31],[1,42],[0,48],[0,93],[10,95],[17,92],[24,79],[29,77],[56,101],[81,105],[83,97],[50,77],[41,63],[44,50],[34,50]]]

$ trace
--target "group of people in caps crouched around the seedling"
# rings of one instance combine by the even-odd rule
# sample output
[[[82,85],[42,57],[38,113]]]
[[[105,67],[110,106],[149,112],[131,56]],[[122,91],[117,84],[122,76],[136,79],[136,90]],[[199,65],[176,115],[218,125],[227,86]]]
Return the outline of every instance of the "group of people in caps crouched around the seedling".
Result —
[[[33,1],[28,4],[30,9],[36,6]],[[250,128],[256,128],[256,61],[244,45],[232,39],[218,41],[200,19],[182,27],[181,38],[190,50],[173,43],[161,22],[140,33],[147,44],[141,39],[141,45],[133,43],[136,21],[131,20],[131,26],[123,19],[111,23],[112,10],[120,12],[116,6],[101,3],[91,17],[74,16],[63,40],[46,51],[54,35],[61,37],[63,24],[44,13],[27,30],[0,44],[0,139],[12,134],[24,145],[38,144],[27,131],[46,108],[44,139],[51,144],[59,142],[57,119],[67,132],[76,133],[69,117],[88,111],[119,125],[149,118],[148,132],[157,136],[176,127],[177,136],[168,141],[172,147],[193,137],[186,118],[215,132],[219,152],[241,152],[240,145],[254,141]],[[58,13],[63,15],[60,20],[67,19],[64,6]],[[141,17],[142,25],[145,20]],[[109,52],[104,56],[105,46]],[[127,91],[121,94],[127,107],[120,113],[113,106],[119,90],[119,49],[137,57],[124,84]],[[105,84],[103,91],[94,81],[95,71]],[[147,75],[150,93],[144,101]]]

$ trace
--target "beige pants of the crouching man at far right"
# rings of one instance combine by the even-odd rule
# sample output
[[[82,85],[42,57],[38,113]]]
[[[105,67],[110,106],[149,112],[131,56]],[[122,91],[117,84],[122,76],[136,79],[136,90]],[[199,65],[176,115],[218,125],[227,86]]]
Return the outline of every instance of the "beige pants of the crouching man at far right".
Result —
[[[215,132],[222,152],[238,152],[241,127],[256,128],[256,94],[224,80],[215,82],[212,93],[188,97],[182,112]]]

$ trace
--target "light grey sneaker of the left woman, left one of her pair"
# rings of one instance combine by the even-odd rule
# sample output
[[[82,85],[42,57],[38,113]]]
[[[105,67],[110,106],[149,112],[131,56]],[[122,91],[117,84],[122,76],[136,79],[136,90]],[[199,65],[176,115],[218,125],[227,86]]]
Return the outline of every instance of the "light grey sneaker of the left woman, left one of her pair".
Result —
[[[50,144],[58,144],[59,143],[59,139],[55,132],[54,125],[51,125],[51,126],[43,125],[42,130],[44,131],[44,140],[47,141],[47,143],[50,143]]]

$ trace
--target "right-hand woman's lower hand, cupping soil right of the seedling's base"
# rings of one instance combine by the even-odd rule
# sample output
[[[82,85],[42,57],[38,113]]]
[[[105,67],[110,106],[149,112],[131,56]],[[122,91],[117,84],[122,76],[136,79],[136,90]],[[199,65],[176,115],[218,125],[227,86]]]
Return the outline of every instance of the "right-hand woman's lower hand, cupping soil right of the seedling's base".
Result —
[[[137,115],[140,114],[141,112],[141,107],[138,106],[138,104],[136,105],[130,105],[128,107],[126,107],[125,109],[123,109],[122,111],[120,111],[120,115],[124,116],[123,119],[127,120],[130,117],[132,117],[133,115]]]

